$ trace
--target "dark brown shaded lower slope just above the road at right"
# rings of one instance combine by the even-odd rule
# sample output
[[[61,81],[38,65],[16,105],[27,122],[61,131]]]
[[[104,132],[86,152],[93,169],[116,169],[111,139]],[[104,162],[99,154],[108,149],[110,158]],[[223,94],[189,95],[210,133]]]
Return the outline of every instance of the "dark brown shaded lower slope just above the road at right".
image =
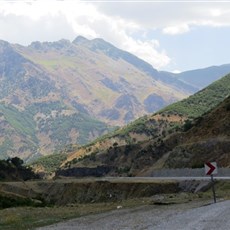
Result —
[[[230,97],[194,121],[189,130],[142,143],[113,144],[107,150],[67,162],[67,168],[59,170],[57,175],[150,175],[153,170],[162,168],[203,167],[207,161],[229,167],[229,118]]]

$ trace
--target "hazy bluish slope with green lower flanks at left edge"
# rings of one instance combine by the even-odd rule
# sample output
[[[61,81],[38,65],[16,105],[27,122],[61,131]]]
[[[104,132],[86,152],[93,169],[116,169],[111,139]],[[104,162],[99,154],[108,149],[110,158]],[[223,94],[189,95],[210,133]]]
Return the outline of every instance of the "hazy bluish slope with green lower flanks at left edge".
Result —
[[[0,42],[0,156],[23,159],[84,144],[108,130],[65,97],[49,73]]]

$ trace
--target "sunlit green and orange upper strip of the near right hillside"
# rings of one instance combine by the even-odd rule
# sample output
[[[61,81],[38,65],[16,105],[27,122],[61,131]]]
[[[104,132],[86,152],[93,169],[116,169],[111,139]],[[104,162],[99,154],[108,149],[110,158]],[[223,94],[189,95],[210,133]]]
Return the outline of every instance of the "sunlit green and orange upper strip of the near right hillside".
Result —
[[[153,115],[139,118],[124,128],[117,129],[80,148],[70,154],[64,163],[72,160],[76,162],[81,157],[90,157],[90,154],[96,155],[115,148],[126,149],[127,153],[130,152],[130,148],[134,148],[138,152],[141,143],[147,146],[151,143],[159,145],[168,135],[190,129],[194,119],[214,109],[229,95],[230,75],[227,75],[187,99],[169,105]],[[123,153],[121,151],[121,156]]]

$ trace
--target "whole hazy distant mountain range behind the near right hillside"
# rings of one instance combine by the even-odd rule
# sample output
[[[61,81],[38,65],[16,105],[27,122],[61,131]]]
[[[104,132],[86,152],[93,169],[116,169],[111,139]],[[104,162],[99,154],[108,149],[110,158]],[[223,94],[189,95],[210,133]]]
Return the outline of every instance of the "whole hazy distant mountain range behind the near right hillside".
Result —
[[[206,83],[230,72],[217,69],[214,77],[194,71]],[[157,71],[102,39],[0,41],[1,157],[29,160],[89,143],[195,93],[203,87],[195,75]]]

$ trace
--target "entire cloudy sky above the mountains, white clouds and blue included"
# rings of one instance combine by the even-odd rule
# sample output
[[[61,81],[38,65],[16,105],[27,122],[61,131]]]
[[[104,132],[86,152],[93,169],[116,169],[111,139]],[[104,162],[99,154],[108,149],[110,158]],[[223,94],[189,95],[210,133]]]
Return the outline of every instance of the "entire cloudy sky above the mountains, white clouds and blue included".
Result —
[[[158,70],[230,63],[230,1],[0,0],[0,39],[100,37]]]

